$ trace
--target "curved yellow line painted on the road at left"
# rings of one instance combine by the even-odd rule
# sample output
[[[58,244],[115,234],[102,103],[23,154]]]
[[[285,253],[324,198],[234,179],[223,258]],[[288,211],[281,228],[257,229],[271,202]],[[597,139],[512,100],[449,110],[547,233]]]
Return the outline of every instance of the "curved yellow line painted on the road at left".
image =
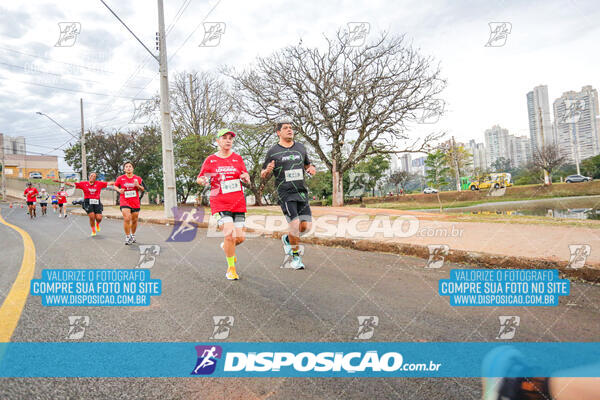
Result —
[[[23,261],[17,279],[12,285],[8,296],[0,307],[0,343],[10,342],[10,338],[19,323],[23,307],[29,295],[29,285],[35,272],[35,246],[33,240],[23,229],[9,224],[0,215],[0,223],[19,232],[23,238]]]

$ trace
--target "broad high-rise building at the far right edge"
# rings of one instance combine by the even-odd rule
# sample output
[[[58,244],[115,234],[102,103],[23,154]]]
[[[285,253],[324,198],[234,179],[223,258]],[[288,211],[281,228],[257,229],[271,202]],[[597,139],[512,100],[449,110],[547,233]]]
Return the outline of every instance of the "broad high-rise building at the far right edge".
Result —
[[[598,91],[584,86],[580,92],[563,93],[553,105],[559,151],[567,162],[600,154]]]

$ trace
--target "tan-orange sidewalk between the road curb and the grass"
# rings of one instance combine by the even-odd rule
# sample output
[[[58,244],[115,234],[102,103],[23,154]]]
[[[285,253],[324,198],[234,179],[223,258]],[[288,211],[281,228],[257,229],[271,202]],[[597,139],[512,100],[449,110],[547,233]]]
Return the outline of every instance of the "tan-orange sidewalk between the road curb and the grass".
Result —
[[[253,210],[275,215],[257,215]],[[250,207],[248,236],[280,237],[287,228],[278,206]],[[365,251],[429,257],[427,245],[447,245],[447,260],[482,267],[559,268],[571,257],[571,245],[589,245],[585,268],[564,270],[570,276],[600,277],[600,230],[575,226],[455,222],[437,213],[357,207],[312,207],[314,232],[303,241]],[[85,215],[82,209],[71,211]],[[104,216],[122,218],[118,208],[106,207]],[[204,215],[200,227],[208,227]],[[140,221],[173,224],[163,211],[144,210]],[[396,223],[394,223],[396,221]]]

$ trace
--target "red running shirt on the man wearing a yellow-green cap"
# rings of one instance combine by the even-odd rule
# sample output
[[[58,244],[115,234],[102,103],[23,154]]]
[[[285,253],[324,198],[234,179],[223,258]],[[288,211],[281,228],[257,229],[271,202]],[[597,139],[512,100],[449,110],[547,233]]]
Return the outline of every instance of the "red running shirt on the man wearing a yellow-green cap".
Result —
[[[239,154],[231,153],[227,158],[212,154],[204,160],[198,176],[210,178],[210,212],[246,212],[246,198],[240,175],[246,170]]]

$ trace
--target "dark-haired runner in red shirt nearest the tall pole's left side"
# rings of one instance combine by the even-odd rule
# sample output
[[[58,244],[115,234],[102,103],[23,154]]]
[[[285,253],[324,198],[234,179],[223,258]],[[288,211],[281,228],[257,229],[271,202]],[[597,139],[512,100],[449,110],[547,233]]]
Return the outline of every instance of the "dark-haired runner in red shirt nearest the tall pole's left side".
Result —
[[[123,164],[125,174],[115,180],[115,187],[118,188],[119,204],[123,214],[123,229],[125,230],[125,244],[135,243],[135,231],[137,230],[137,220],[140,213],[140,193],[145,189],[142,184],[142,178],[133,174],[133,164],[127,161]]]

